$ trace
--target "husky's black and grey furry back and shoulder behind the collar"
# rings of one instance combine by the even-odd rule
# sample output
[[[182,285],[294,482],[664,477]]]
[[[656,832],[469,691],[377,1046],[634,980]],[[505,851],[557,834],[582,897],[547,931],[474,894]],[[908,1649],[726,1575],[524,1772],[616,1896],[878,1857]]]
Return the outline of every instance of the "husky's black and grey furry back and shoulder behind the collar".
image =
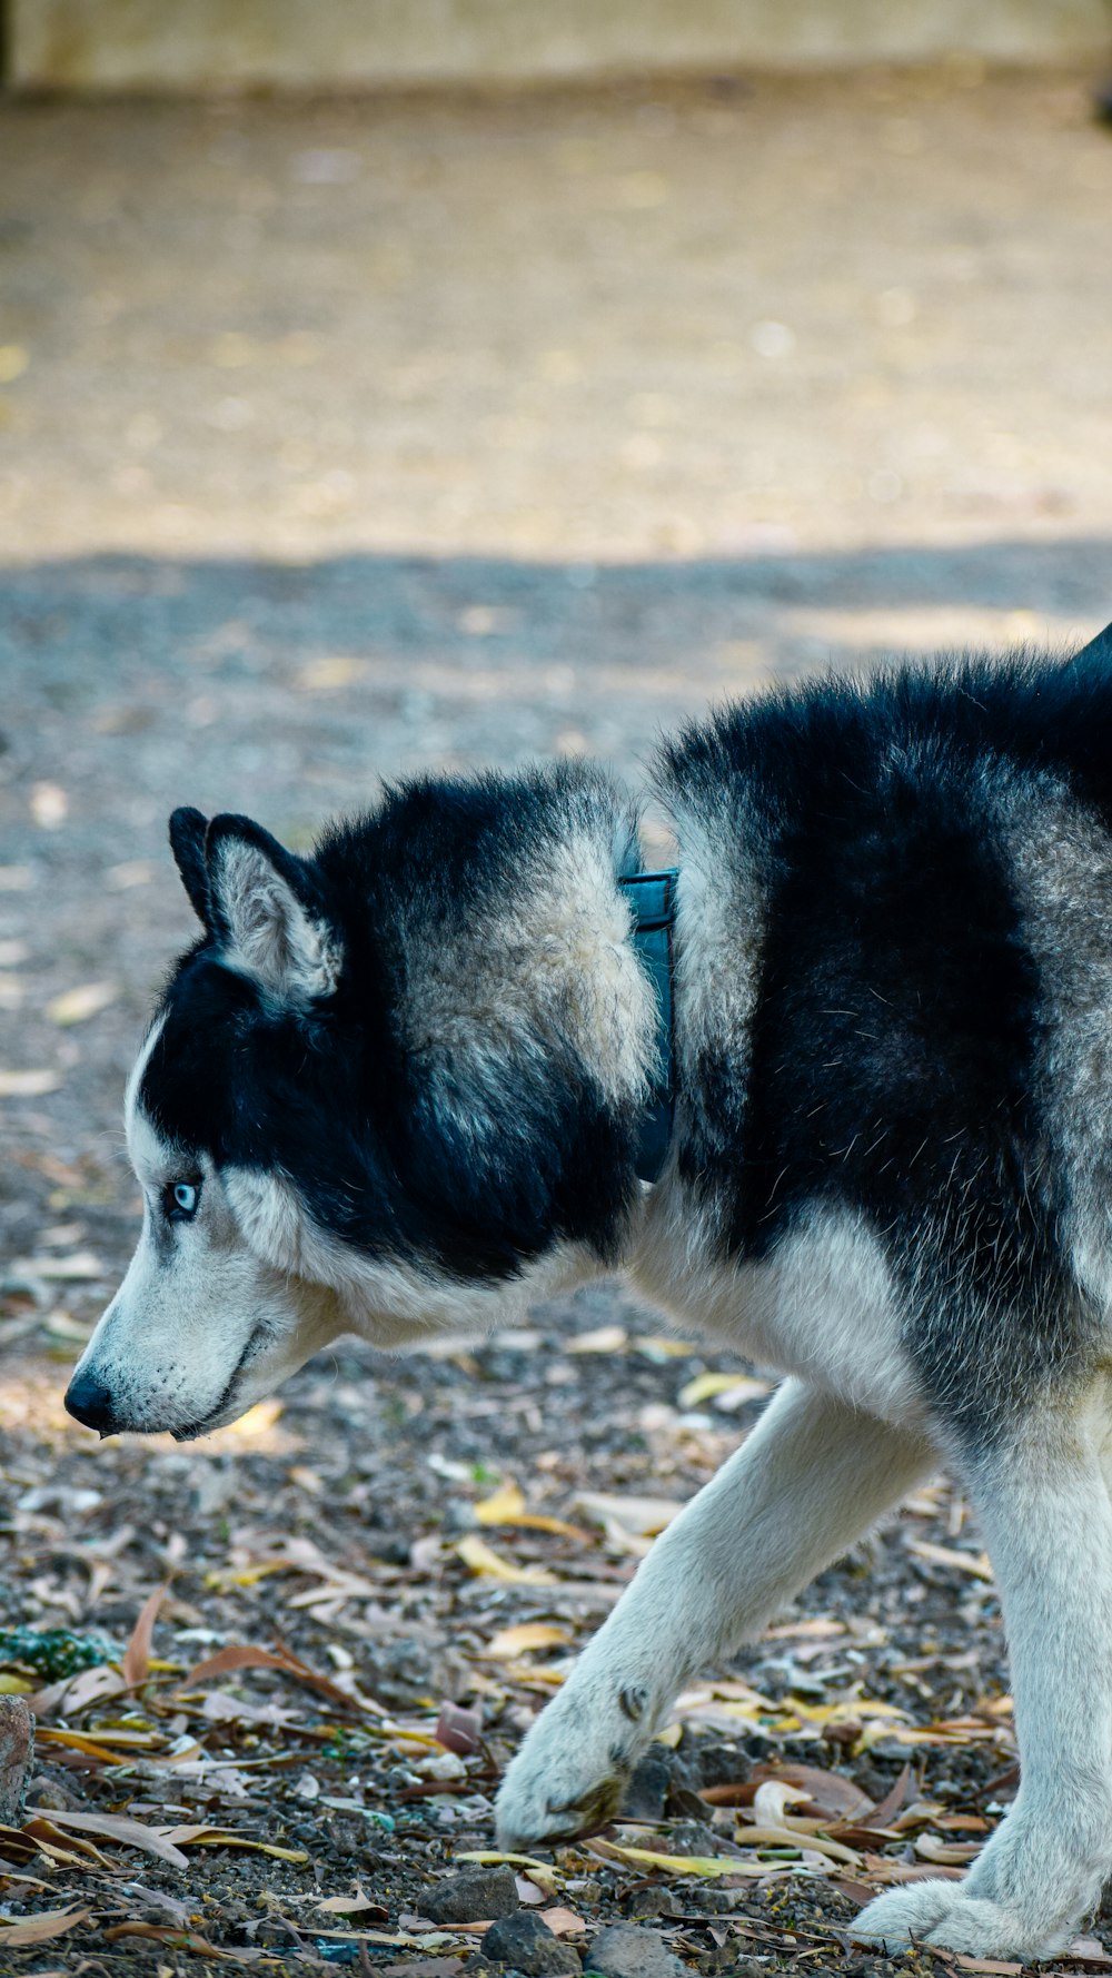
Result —
[[[1112,1300],[1112,671],[821,680],[665,787],[685,1214],[732,1266],[859,1218],[928,1402],[991,1432]]]

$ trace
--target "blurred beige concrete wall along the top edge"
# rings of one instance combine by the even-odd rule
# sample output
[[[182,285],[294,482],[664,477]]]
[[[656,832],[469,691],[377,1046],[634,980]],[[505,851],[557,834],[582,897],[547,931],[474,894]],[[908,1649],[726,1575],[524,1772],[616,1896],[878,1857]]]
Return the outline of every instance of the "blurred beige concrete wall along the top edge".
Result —
[[[8,81],[32,89],[522,83],[952,51],[1053,63],[1110,44],[1106,0],[8,0]]]

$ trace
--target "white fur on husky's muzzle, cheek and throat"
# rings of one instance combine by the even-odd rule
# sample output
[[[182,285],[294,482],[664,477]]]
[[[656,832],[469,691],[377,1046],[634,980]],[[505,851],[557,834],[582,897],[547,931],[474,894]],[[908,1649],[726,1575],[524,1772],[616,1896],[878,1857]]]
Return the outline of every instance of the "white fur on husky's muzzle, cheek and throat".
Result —
[[[127,1088],[127,1141],[142,1185],[142,1236],[77,1373],[111,1394],[113,1426],[200,1434],[235,1420],[344,1331],[400,1347],[518,1319],[598,1260],[558,1244],[509,1282],[461,1284],[431,1264],[372,1258],[319,1228],[291,1181],[186,1161],[139,1102],[162,1021]],[[192,1220],[166,1220],[164,1189],[196,1181]]]

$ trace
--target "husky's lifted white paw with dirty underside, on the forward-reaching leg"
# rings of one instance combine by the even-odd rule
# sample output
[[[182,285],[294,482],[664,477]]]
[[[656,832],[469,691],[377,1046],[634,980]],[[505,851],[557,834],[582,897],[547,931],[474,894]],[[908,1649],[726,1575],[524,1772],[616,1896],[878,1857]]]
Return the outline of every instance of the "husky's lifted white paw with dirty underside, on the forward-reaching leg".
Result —
[[[574,1840],[613,1820],[643,1745],[629,1729],[629,1715],[592,1721],[592,1713],[576,1717],[550,1705],[503,1780],[495,1806],[499,1845]]]

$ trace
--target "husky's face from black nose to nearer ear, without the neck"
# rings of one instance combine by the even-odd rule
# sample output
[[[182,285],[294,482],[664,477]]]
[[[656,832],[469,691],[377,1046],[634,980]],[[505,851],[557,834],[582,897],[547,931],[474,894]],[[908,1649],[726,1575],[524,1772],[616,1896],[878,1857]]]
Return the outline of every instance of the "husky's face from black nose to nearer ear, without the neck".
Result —
[[[281,1169],[319,1110],[315,1070],[326,1082],[342,951],[311,866],[259,825],[174,811],[170,843],[204,940],[129,1080],[142,1236],[65,1400],[105,1434],[186,1438],[233,1420],[346,1323],[299,1268]]]

